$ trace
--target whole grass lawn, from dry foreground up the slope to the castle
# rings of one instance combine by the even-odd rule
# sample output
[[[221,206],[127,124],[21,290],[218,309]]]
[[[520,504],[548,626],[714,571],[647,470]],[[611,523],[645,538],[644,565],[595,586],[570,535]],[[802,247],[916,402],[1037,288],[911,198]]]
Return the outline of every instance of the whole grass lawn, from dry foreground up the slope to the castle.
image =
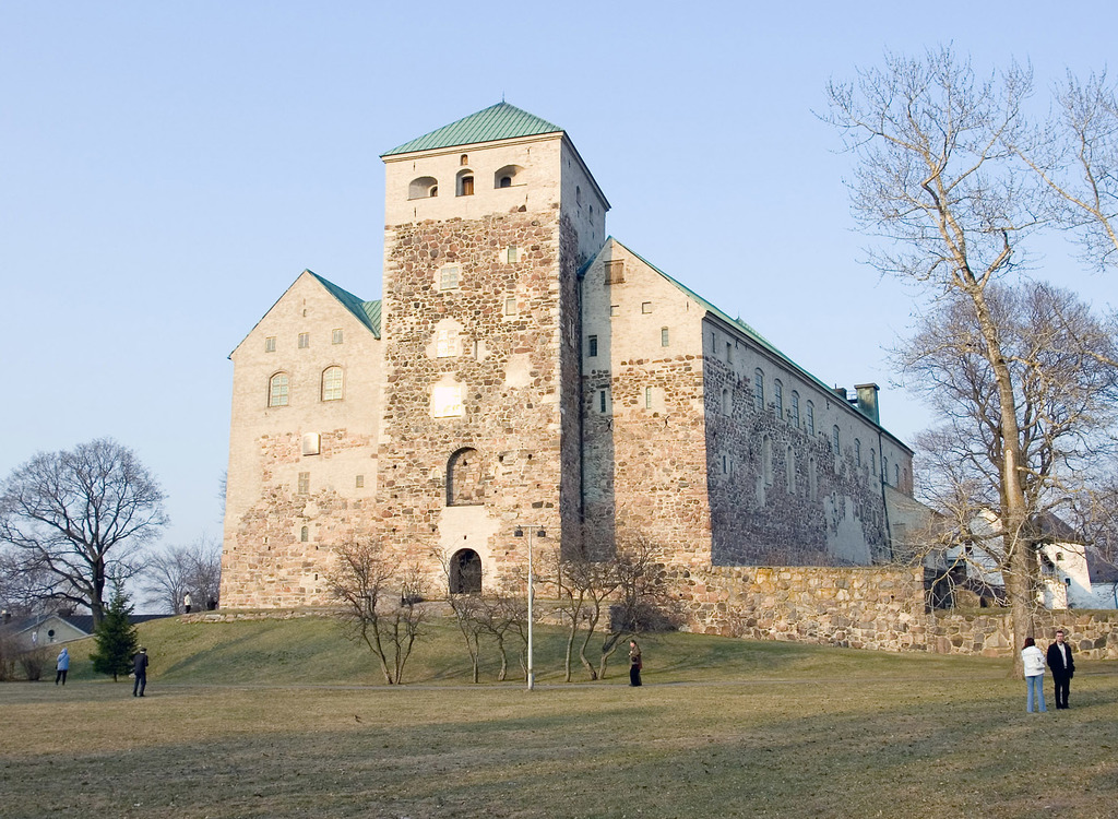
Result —
[[[468,685],[448,628],[401,687],[326,620],[142,634],[142,700],[80,650],[65,689],[0,686],[0,817],[1118,816],[1112,662],[1025,714],[979,658],[669,634],[632,689],[561,682],[541,629],[529,693]]]

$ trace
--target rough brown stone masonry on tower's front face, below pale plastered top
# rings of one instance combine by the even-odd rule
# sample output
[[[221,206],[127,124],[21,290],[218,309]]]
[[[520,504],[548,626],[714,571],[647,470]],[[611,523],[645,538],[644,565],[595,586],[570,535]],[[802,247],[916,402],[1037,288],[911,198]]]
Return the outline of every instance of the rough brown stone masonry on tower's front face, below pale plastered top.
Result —
[[[377,515],[386,540],[425,564],[473,549],[485,587],[511,583],[524,558],[517,525],[561,535],[558,208],[390,226],[385,245]],[[442,290],[447,264],[461,283]],[[448,326],[449,355],[439,348]],[[435,416],[436,385],[461,389],[461,414]],[[446,502],[447,462],[463,448],[482,462],[476,515]]]

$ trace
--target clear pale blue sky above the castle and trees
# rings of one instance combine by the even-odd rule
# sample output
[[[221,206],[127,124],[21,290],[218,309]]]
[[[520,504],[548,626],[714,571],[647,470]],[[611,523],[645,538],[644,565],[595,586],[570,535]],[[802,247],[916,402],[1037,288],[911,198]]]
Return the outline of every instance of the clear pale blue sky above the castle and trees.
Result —
[[[310,267],[380,295],[379,154],[499,102],[563,128],[610,234],[831,384],[928,423],[884,348],[911,294],[860,264],[813,111],[884,49],[953,43],[1043,87],[1114,54],[1112,2],[0,2],[0,473],[111,435],[219,535],[228,354]],[[1040,274],[1096,304],[1062,245]]]

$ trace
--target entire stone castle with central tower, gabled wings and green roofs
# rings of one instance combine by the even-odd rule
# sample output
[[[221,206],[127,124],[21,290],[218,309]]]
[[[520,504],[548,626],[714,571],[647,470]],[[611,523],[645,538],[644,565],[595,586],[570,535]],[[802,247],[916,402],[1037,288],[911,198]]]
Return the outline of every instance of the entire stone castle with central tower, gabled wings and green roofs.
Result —
[[[305,271],[230,356],[224,609],[330,603],[356,537],[442,593],[521,583],[525,528],[639,538],[681,576],[889,558],[912,452],[878,387],[828,387],[607,236],[562,129],[502,102],[382,159],[382,299]]]

